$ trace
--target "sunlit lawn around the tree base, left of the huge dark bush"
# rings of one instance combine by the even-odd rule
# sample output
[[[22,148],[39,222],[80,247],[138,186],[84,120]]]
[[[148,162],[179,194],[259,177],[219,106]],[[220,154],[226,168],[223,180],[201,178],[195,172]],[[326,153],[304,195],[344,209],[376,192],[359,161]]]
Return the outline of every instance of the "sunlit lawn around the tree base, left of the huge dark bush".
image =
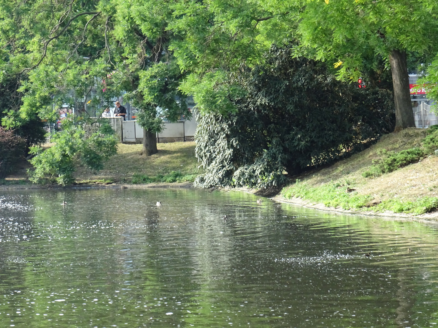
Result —
[[[104,169],[93,172],[87,167],[78,167],[74,173],[77,182],[104,180],[113,182],[131,182],[135,176],[166,176],[180,172],[182,176],[199,174],[198,162],[194,156],[194,142],[158,143],[158,153],[142,156],[141,144],[123,144],[117,146],[117,154],[109,158]]]

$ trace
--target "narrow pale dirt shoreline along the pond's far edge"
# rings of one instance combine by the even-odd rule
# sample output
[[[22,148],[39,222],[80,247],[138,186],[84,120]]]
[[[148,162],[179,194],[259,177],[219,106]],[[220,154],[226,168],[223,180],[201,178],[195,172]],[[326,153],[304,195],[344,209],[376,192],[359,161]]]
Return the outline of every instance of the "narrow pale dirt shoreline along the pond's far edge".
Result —
[[[99,189],[145,189],[145,188],[194,188],[193,182],[173,182],[173,183],[145,183],[145,184],[132,184],[132,183],[112,183],[108,185],[99,184],[99,183],[88,183],[88,184],[81,184],[81,185],[70,185],[70,186],[42,186],[42,185],[1,185],[0,190],[20,190],[20,189],[85,189],[85,188],[99,188]],[[250,188],[219,188],[217,190],[222,190],[225,192],[231,191],[231,190],[237,190],[242,192],[248,192],[251,194],[255,194],[257,190],[250,189]],[[314,202],[310,202],[304,199],[300,198],[292,198],[292,199],[285,199],[280,194],[277,194],[273,197],[267,197],[268,199],[271,199],[276,202],[282,202],[282,203],[288,203],[293,205],[299,205],[306,208],[311,209],[318,209],[320,211],[325,212],[335,212],[335,213],[344,213],[344,214],[353,214],[353,215],[363,215],[363,216],[379,216],[379,217],[386,217],[386,218],[392,218],[392,219],[408,219],[408,220],[416,220],[419,222],[434,222],[438,221],[438,210],[431,212],[431,213],[425,213],[421,215],[409,215],[406,213],[394,213],[391,211],[385,211],[382,213],[376,213],[373,211],[363,211],[363,210],[352,210],[352,209],[342,209],[340,207],[334,208],[334,207],[327,207],[324,206],[324,204],[318,204]]]

